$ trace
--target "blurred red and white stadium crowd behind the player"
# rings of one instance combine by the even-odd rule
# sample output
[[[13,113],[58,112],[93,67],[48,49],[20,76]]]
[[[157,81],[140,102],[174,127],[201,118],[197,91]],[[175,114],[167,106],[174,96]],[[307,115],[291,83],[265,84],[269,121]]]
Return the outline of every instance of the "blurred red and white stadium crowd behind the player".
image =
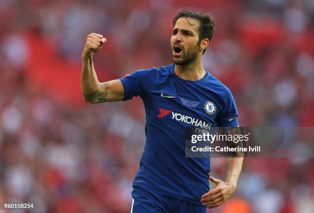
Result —
[[[100,81],[168,65],[180,8],[214,15],[203,63],[233,92],[241,126],[314,126],[311,0],[1,0],[0,199],[34,202],[31,212],[129,212],[143,104],[83,102],[81,53],[87,34],[105,35]],[[225,162],[212,159],[211,175],[224,180]],[[235,194],[208,212],[310,213],[313,203],[313,159],[245,159]]]

